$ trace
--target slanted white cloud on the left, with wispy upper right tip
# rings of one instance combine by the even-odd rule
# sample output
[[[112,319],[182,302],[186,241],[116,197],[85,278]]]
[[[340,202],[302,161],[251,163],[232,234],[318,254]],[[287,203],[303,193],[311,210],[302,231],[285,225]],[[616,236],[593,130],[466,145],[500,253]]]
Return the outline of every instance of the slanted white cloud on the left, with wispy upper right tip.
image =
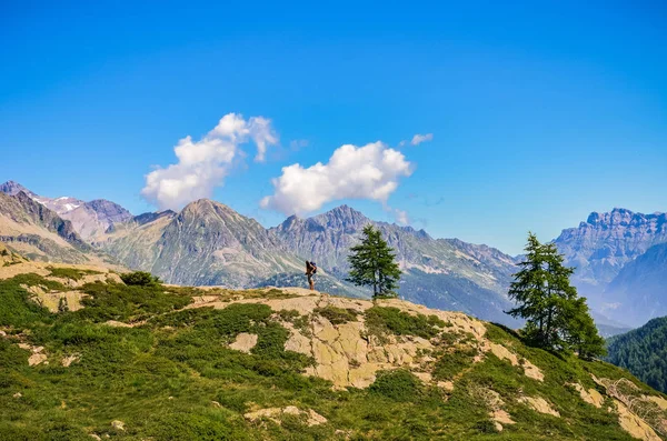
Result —
[[[257,161],[262,161],[268,146],[278,143],[271,120],[228,113],[201,140],[192,137],[178,141],[173,152],[178,163],[158,168],[146,176],[141,194],[161,210],[180,209],[196,199],[210,198],[213,188],[223,183],[239,146],[252,140],[257,146]]]

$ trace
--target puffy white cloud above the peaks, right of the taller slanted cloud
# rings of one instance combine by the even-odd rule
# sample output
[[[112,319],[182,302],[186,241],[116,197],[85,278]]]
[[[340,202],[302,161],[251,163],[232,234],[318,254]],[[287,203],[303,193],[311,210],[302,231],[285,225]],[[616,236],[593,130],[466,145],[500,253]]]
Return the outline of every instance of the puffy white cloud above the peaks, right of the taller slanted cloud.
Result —
[[[283,167],[282,176],[271,181],[273,196],[263,198],[260,206],[285,214],[303,214],[340,199],[386,203],[399,179],[411,172],[404,154],[380,141],[364,147],[345,144],[326,164]]]

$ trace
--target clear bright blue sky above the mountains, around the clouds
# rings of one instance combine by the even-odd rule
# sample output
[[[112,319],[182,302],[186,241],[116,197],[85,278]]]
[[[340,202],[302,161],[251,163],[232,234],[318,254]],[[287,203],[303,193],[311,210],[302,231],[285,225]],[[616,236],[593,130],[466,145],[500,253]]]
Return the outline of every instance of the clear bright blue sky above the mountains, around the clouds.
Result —
[[[266,225],[283,167],[376,141],[411,174],[313,213],[402,210],[518,253],[590,211],[667,211],[667,7],[580,3],[3,1],[0,181],[152,211],[145,176],[236,112],[279,143],[239,144],[211,196]],[[399,147],[416,133],[434,139]]]

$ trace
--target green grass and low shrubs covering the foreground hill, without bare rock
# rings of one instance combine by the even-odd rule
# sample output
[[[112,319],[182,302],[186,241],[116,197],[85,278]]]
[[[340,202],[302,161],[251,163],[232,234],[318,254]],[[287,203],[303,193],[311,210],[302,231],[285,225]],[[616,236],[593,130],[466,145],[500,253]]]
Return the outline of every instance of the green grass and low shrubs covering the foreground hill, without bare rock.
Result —
[[[445,350],[454,352],[434,354],[436,380],[456,375],[452,391],[422,384],[400,369],[378,372],[368,389],[334,390],[328,381],[303,375],[312,360],[285,351],[289,331],[279,322],[308,315],[277,313],[260,303],[181,309],[190,302],[186,291],[113,283],[88,284],[83,310],[51,314],[20,287],[47,282],[33,274],[0,281],[0,325],[8,333],[0,338],[0,439],[87,440],[90,433],[109,433],[119,440],[631,440],[618,415],[607,411],[610,400],[597,409],[564,387],[594,388],[590,373],[614,380],[627,372],[527,348],[499,328],[491,328],[490,338],[538,365],[544,381],[491,353],[471,363],[472,350],[458,347],[461,335],[452,333],[456,340]],[[376,329],[399,335],[428,337],[442,325],[388,308],[370,315]],[[135,328],[99,323],[109,319],[148,320]],[[229,349],[239,332],[258,335],[250,353]],[[29,367],[30,352],[18,348],[20,341],[43,345],[50,363]],[[70,354],[79,359],[62,367],[59,361]],[[516,421],[499,434],[485,395],[475,393],[487,389],[500,394]],[[13,397],[17,392],[22,395]],[[646,385],[636,392],[655,394]],[[520,395],[545,398],[561,418],[532,411],[518,402]],[[329,422],[308,427],[302,417],[280,418],[281,424],[243,418],[251,410],[286,405],[312,409]],[[116,419],[126,422],[126,431],[111,429]]]

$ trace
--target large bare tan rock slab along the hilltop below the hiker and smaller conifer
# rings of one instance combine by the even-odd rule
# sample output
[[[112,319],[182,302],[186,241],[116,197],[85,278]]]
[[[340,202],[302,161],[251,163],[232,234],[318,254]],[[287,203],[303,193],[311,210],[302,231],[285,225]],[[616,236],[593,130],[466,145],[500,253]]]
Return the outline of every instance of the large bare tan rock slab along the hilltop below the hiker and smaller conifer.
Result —
[[[290,322],[282,323],[290,330],[285,349],[311,357],[316,363],[307,368],[305,373],[330,380],[336,388],[367,388],[375,381],[378,371],[398,368],[410,369],[425,382],[438,383],[432,380],[434,360],[429,354],[435,350],[447,350],[451,343],[444,343],[438,338],[428,340],[417,335],[385,335],[380,340],[369,331],[364,319],[364,312],[374,304],[398,308],[411,315],[436,315],[447,323],[445,333],[458,335],[458,338],[469,335],[472,339],[470,344],[480,354],[476,361],[481,361],[484,353],[492,351],[491,348],[496,348],[496,352],[500,353],[498,350],[500,344],[486,340],[484,323],[460,312],[429,310],[422,305],[397,299],[379,300],[372,303],[367,300],[313,294],[308,290],[286,289],[283,292],[296,297],[287,299],[250,298],[239,299],[235,302],[262,303],[275,311],[297,311],[299,314],[308,317],[307,328],[297,328]],[[227,308],[229,304],[229,302],[211,300],[190,304],[187,308]],[[328,307],[357,311],[357,319],[332,324],[326,317],[316,312]],[[241,335],[242,341],[249,339],[249,335]],[[510,363],[510,360],[519,362],[514,352],[505,347],[501,348]],[[537,367],[527,360],[522,361],[527,377],[537,381],[544,378]]]

